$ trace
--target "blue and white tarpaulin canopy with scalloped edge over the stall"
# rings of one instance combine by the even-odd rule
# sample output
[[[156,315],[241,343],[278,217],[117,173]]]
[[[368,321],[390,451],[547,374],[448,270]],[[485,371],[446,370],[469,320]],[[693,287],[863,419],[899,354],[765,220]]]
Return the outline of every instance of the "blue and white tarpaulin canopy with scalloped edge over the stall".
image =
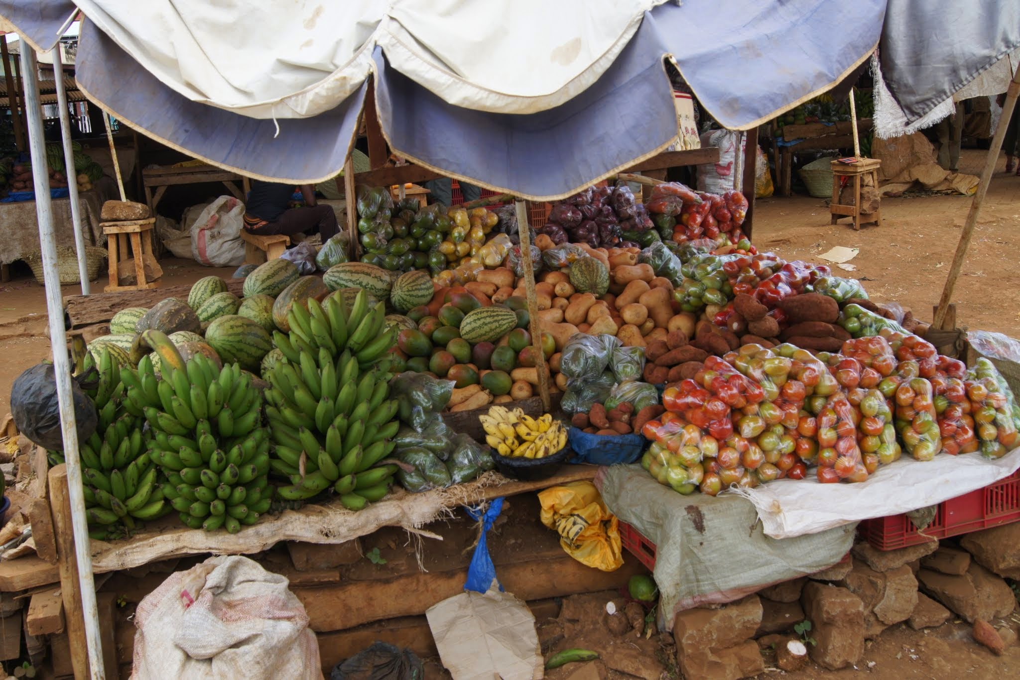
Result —
[[[0,17],[47,50],[82,10],[81,90],[215,165],[299,184],[335,176],[372,93],[396,154],[538,200],[674,141],[665,59],[723,126],[749,129],[879,45],[907,120],[1020,45],[1020,3],[1005,0],[336,4],[0,0]]]

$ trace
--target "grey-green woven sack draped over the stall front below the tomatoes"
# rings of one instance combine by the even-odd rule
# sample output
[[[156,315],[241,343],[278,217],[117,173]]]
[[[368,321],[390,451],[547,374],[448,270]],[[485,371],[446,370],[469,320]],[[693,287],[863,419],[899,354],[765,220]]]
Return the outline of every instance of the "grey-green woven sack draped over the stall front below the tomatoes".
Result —
[[[596,485],[611,513],[656,544],[660,630],[672,628],[677,612],[731,603],[767,585],[831,567],[854,543],[856,524],[777,540],[765,535],[755,507],[746,499],[681,495],[640,465],[604,467]],[[861,484],[827,486],[857,490]]]

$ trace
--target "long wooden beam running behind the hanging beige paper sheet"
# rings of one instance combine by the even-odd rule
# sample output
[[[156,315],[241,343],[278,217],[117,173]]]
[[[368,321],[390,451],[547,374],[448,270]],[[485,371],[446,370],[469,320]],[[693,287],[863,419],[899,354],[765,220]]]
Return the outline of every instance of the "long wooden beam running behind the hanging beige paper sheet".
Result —
[[[566,597],[582,592],[615,590],[631,576],[646,573],[638,559],[623,555],[623,566],[613,572],[585,567],[561,552],[545,558],[497,565],[500,583],[519,599]],[[432,605],[464,590],[467,569],[415,573],[389,581],[342,583],[321,588],[294,588],[304,604],[312,630],[345,630],[373,621],[418,616]],[[357,603],[357,607],[351,607]]]

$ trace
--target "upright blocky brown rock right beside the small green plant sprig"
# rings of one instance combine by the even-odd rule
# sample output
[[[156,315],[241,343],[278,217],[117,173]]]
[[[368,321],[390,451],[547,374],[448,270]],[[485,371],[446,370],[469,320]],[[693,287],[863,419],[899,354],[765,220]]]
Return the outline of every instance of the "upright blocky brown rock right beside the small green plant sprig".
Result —
[[[817,644],[811,658],[835,671],[864,655],[864,604],[847,588],[810,582],[801,594],[804,613],[811,620]]]

